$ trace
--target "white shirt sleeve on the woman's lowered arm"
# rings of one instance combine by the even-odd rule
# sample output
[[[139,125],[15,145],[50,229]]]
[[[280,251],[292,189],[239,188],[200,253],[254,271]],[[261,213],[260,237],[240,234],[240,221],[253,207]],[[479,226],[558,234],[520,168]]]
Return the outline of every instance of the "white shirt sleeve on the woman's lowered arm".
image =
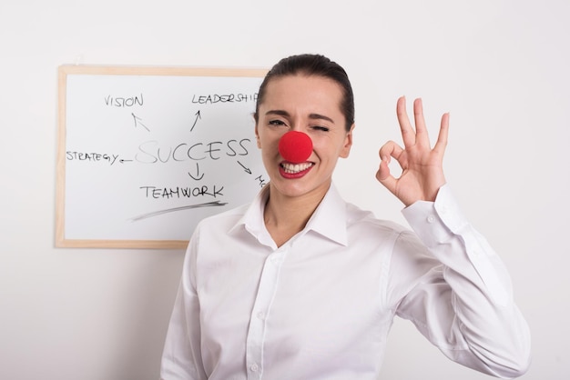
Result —
[[[200,353],[196,292],[198,228],[188,244],[160,365],[161,380],[206,380]]]

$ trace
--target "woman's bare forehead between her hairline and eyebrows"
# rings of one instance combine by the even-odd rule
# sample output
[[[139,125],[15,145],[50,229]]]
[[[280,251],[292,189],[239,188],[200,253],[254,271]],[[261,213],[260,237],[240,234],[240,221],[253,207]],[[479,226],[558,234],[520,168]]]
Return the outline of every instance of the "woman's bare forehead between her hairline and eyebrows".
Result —
[[[341,85],[330,78],[320,75],[286,75],[270,80],[260,106],[317,107],[341,113],[341,101]]]

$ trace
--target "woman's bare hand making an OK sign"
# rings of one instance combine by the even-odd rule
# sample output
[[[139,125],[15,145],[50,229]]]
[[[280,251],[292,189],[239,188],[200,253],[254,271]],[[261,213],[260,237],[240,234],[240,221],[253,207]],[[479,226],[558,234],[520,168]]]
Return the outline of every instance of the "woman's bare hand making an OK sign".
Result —
[[[443,175],[443,153],[447,145],[449,114],[443,114],[437,142],[432,147],[423,119],[422,99],[413,102],[415,131],[406,113],[406,99],[398,99],[396,106],[398,123],[402,129],[404,148],[393,141],[382,145],[380,149],[380,167],[376,179],[396,195],[404,205],[416,201],[434,201],[438,190],[445,184]],[[391,157],[402,167],[402,175],[395,178],[390,174]]]

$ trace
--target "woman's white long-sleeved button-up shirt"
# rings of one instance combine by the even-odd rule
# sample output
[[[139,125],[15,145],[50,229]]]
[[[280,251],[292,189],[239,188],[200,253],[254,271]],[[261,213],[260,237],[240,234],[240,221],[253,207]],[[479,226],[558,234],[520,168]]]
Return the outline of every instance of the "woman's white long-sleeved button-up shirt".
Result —
[[[524,373],[530,335],[509,275],[447,185],[403,210],[415,234],[331,186],[280,247],[263,222],[267,189],[192,235],[163,379],[376,379],[394,315],[458,363]]]

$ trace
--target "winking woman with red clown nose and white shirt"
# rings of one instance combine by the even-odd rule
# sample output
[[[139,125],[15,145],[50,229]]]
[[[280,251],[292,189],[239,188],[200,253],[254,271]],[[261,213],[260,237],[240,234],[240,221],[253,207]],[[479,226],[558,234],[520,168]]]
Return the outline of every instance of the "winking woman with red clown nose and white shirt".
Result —
[[[394,315],[458,363],[524,374],[530,337],[509,275],[445,185],[448,115],[432,149],[422,102],[414,131],[401,98],[404,147],[380,149],[376,177],[406,205],[412,232],[345,203],[331,183],[351,150],[353,103],[346,73],[324,56],[270,70],[255,113],[270,184],[194,232],[163,379],[376,379]]]

